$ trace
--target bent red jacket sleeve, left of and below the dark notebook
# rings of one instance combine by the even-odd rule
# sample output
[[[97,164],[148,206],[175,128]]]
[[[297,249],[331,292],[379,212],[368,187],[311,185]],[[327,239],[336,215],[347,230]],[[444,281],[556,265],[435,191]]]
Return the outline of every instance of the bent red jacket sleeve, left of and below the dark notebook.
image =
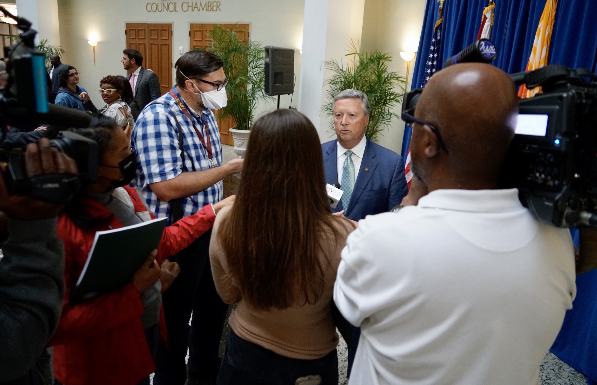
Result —
[[[64,281],[66,281],[66,300],[54,337],[48,346],[67,343],[72,340],[88,339],[94,334],[107,330],[139,317],[145,311],[139,291],[133,284],[127,284],[120,290],[104,294],[94,300],[69,305],[70,293],[75,287],[79,274],[87,260],[88,240],[81,229],[70,221],[60,218],[58,235],[64,243]]]

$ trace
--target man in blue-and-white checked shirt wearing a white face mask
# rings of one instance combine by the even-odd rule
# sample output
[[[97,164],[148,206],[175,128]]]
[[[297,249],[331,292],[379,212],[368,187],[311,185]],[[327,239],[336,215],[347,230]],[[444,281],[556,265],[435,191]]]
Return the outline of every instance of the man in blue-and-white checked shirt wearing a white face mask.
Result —
[[[147,104],[133,128],[139,169],[132,184],[158,218],[168,218],[167,225],[220,201],[222,179],[242,170],[242,159],[222,164],[220,132],[210,110],[227,103],[222,66],[210,52],[186,52],[174,66],[176,85]],[[180,275],[162,296],[170,346],[158,349],[156,385],[209,384],[217,376],[227,305],[211,276],[210,236],[206,232],[176,256]]]

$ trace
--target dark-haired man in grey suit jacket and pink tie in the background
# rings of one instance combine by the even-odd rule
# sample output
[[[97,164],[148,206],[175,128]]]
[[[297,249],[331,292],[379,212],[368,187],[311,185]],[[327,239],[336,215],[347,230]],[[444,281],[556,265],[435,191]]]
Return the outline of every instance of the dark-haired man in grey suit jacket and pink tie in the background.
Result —
[[[122,54],[122,66],[125,70],[132,71],[127,79],[131,83],[133,97],[143,110],[147,104],[162,96],[158,75],[141,67],[143,65],[143,55],[136,49],[125,49]]]

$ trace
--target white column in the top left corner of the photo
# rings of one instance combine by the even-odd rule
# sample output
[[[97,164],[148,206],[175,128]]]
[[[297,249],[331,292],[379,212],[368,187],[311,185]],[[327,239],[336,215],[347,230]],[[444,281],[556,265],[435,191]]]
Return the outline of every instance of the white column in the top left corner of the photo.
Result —
[[[19,16],[31,21],[38,32],[36,42],[48,39],[50,45],[60,45],[58,0],[16,0]]]

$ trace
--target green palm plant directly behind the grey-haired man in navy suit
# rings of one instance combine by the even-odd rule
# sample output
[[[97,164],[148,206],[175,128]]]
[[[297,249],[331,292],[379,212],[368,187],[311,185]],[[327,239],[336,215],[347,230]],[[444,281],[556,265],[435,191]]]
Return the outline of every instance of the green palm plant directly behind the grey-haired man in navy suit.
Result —
[[[334,98],[344,89],[359,89],[367,95],[371,105],[370,119],[365,135],[372,141],[377,141],[378,135],[390,125],[392,117],[398,117],[393,107],[399,105],[406,90],[407,80],[398,72],[389,72],[387,63],[392,56],[380,51],[359,52],[354,44],[350,44],[349,53],[352,63],[346,67],[342,61],[326,61],[325,68],[332,72],[324,85],[328,86],[328,103],[322,107],[328,116],[334,116]],[[334,131],[334,121],[331,121]]]

